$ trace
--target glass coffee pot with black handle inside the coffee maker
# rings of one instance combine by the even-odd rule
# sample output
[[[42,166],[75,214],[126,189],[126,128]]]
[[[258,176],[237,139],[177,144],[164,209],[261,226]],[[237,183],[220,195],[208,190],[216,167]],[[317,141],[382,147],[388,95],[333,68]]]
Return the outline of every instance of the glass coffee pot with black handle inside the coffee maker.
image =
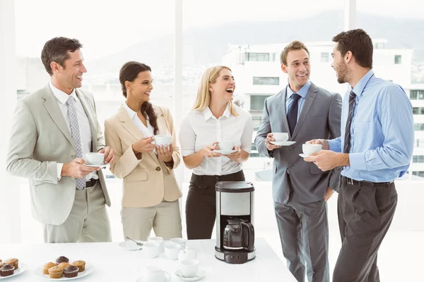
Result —
[[[223,247],[227,250],[247,250],[254,247],[254,228],[252,223],[241,219],[229,219],[224,230]]]

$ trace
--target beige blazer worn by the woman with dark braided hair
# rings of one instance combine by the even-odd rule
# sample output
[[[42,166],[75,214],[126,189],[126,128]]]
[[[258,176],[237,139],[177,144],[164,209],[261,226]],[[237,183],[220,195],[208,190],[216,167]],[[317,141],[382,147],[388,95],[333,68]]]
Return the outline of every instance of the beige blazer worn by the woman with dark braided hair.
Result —
[[[141,159],[137,159],[131,145],[146,136],[131,120],[124,106],[105,121],[106,144],[114,151],[110,171],[117,178],[124,179],[122,207],[153,207],[163,200],[172,202],[182,196],[174,176],[174,169],[181,161],[174,121],[169,109],[153,107],[158,115],[158,134],[172,135],[172,168],[159,161],[153,152],[142,153]]]

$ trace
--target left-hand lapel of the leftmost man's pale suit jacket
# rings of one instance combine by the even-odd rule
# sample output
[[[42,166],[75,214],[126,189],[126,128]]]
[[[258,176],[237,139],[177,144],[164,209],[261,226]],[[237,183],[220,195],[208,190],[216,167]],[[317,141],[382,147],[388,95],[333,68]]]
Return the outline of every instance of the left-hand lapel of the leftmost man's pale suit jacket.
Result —
[[[44,106],[46,108],[46,111],[49,113],[54,123],[56,123],[61,133],[65,135],[66,139],[68,139],[71,145],[75,148],[75,145],[73,144],[73,140],[71,137],[71,133],[69,132],[68,125],[66,125],[64,116],[62,115],[59,109],[59,106],[57,104],[57,99],[56,97],[54,97],[54,94],[52,90],[50,89],[49,85],[47,85],[42,90],[41,97],[42,99],[45,99]]]

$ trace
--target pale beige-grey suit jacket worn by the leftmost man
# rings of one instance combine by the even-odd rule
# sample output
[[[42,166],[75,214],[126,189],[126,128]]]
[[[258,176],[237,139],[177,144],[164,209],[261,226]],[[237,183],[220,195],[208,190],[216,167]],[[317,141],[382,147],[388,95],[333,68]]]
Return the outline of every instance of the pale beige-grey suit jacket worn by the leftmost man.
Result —
[[[90,121],[92,152],[105,147],[105,137],[95,114],[93,95],[76,90]],[[68,218],[76,192],[75,178],[57,180],[57,162],[76,157],[71,133],[49,85],[18,100],[12,121],[7,171],[30,180],[33,217],[60,225]],[[98,171],[105,201],[110,206],[102,171]]]

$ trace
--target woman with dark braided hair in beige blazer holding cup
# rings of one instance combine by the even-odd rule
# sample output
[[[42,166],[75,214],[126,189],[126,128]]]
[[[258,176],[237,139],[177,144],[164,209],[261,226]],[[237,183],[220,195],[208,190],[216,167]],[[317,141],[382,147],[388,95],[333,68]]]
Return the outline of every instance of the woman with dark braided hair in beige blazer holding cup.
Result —
[[[124,236],[146,240],[153,231],[169,240],[182,237],[174,176],[181,155],[170,111],[152,105],[151,68],[130,61],[119,72],[126,102],[105,121],[106,144],[114,149],[110,171],[123,178],[122,226]],[[153,135],[171,135],[170,146],[155,146]]]

